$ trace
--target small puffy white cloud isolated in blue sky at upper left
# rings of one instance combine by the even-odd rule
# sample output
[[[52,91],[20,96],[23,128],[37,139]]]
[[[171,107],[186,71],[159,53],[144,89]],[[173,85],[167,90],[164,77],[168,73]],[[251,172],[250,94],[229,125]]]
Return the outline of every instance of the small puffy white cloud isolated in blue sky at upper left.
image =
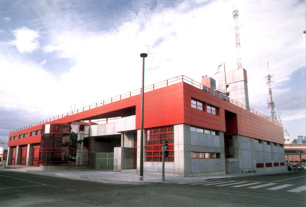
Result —
[[[13,31],[15,35],[15,40],[12,42],[16,45],[19,52],[31,53],[39,48],[39,42],[37,38],[39,37],[38,32],[28,29],[26,27],[17,29]]]

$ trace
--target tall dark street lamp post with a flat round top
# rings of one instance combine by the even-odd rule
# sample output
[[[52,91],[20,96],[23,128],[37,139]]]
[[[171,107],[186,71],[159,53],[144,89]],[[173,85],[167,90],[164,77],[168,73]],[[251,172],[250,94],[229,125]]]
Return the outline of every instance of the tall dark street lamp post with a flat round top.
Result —
[[[141,87],[141,127],[140,127],[140,175],[139,179],[144,180],[144,58],[148,54],[141,53],[142,57],[142,87]]]

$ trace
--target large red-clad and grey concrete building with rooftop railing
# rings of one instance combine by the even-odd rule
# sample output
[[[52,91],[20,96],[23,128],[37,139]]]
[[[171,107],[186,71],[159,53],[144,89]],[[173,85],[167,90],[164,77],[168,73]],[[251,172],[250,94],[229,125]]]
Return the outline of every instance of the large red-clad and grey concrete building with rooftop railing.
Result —
[[[246,73],[235,74],[244,87]],[[174,176],[286,171],[282,125],[214,86],[178,76],[146,87],[144,172],[161,172],[163,140]],[[140,90],[54,116],[9,134],[7,165],[139,170],[140,120]]]

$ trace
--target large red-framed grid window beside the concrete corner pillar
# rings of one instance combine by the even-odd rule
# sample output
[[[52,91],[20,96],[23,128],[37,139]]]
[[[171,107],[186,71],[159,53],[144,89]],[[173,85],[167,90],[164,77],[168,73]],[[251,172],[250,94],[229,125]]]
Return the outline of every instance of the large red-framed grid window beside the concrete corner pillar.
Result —
[[[162,143],[168,141],[169,156],[165,162],[174,162],[174,127],[148,129],[146,131],[146,160],[147,162],[162,161]]]

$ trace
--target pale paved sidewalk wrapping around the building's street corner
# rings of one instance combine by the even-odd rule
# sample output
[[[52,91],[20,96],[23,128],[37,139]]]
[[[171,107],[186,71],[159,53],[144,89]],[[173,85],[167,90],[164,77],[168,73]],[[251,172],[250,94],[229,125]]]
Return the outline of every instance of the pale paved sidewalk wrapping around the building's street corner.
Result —
[[[7,167],[10,167],[7,168]],[[176,177],[165,175],[166,182],[162,182],[162,175],[150,172],[144,172],[144,180],[139,180],[139,172],[136,170],[122,170],[119,172],[104,171],[104,170],[71,170],[71,171],[42,171],[40,167],[24,166],[24,165],[9,165],[1,166],[0,171],[11,172],[31,172],[37,175],[55,176],[67,179],[87,180],[103,183],[125,183],[125,184],[158,184],[158,183],[192,183],[207,179],[217,179],[226,177],[244,177],[258,176],[276,173],[293,173],[293,172],[266,172],[266,173],[245,173],[245,174],[226,174],[216,176],[196,176],[196,177]]]

